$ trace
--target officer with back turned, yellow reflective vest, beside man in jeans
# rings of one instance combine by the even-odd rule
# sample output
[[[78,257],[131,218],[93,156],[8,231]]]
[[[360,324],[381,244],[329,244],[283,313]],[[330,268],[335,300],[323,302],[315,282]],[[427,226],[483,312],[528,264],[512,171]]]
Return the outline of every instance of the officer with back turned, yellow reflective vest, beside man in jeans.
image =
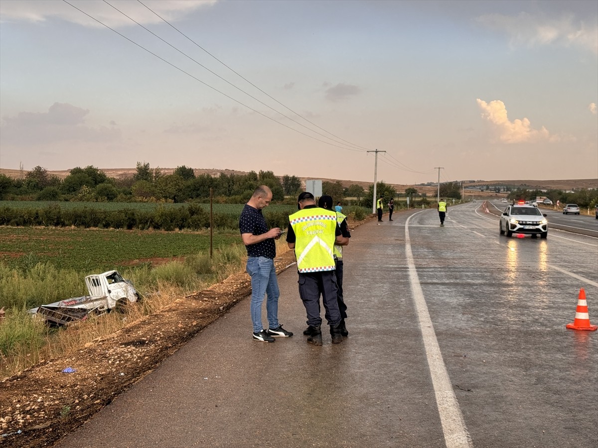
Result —
[[[297,257],[299,296],[307,314],[304,334],[310,344],[322,345],[321,295],[332,343],[343,342],[334,274],[334,244],[342,241],[337,216],[334,211],[318,207],[310,192],[301,193],[297,202],[299,211],[289,216],[286,242]]]

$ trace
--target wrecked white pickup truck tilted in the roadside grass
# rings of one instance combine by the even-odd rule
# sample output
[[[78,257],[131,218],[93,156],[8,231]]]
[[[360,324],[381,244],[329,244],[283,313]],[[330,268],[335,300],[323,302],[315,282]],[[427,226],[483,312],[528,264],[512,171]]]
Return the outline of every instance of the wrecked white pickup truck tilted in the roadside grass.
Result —
[[[90,312],[103,313],[120,305],[136,302],[139,294],[129,280],[117,271],[88,275],[85,284],[89,296],[73,297],[48,303],[29,310],[51,324],[66,325],[73,321],[85,320]]]

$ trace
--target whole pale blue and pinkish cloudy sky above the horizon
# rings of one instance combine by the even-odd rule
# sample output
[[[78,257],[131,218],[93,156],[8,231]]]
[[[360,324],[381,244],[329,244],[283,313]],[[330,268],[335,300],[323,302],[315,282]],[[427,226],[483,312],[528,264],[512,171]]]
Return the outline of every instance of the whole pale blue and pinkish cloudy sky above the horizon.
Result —
[[[0,168],[594,179],[597,104],[598,1],[0,1]]]

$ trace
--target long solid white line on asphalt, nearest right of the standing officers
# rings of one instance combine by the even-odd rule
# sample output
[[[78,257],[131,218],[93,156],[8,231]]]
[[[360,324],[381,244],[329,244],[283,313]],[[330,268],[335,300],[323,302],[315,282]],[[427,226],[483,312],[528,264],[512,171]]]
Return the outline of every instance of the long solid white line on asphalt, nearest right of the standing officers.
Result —
[[[418,211],[417,213],[422,213]],[[415,268],[411,241],[409,239],[409,220],[417,213],[412,214],[405,222],[405,257],[409,267],[409,283],[415,302],[419,328],[422,332],[423,346],[426,349],[428,368],[432,377],[432,386],[436,395],[436,405],[443,425],[444,443],[447,448],[471,448],[473,444],[465,426],[465,420],[459,407],[459,402],[454,395],[449,373],[444,365],[443,354],[438,346],[438,339],[428,312],[426,299],[423,297],[422,286]]]

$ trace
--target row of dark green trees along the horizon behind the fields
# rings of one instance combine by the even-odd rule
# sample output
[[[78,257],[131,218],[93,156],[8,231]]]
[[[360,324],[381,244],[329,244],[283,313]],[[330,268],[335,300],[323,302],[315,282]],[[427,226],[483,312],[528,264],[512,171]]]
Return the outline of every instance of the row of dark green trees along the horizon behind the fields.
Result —
[[[164,174],[160,168],[151,168],[147,162],[137,162],[133,176],[117,179],[108,177],[104,171],[92,165],[75,167],[64,179],[48,173],[37,166],[25,174],[24,179],[12,179],[0,174],[0,200],[21,201],[81,201],[81,202],[206,202],[210,189],[216,202],[239,204],[249,200],[255,188],[267,185],[273,201],[294,202],[301,192],[301,179],[285,174],[274,176],[272,171],[250,171],[247,174],[220,173],[219,176],[199,174],[193,168],[181,165],[172,174]],[[386,201],[396,198],[399,192],[385,182],[377,182],[377,195]],[[441,196],[460,199],[459,186],[452,183],[441,185]],[[344,187],[340,181],[322,182],[322,194],[335,201],[371,207],[373,183],[364,189],[353,184]],[[407,188],[405,195],[411,200],[419,197],[417,189]],[[346,201],[346,198],[351,198]],[[425,194],[420,202],[429,201]]]

